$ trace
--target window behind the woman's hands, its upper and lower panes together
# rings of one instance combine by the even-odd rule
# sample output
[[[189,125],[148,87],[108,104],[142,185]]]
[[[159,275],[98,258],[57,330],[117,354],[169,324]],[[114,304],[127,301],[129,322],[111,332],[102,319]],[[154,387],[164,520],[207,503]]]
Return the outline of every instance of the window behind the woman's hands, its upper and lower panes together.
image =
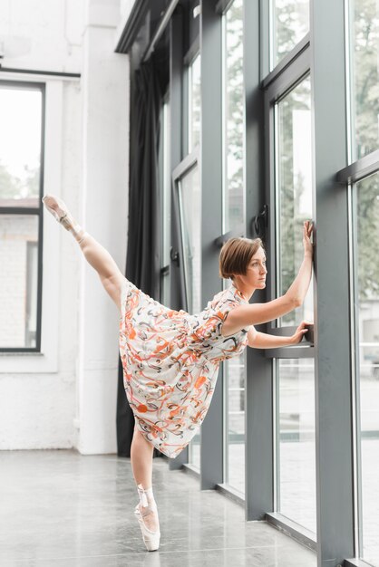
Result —
[[[303,223],[313,218],[309,74],[301,69],[288,72],[287,83],[274,83],[271,89],[271,185],[276,205],[276,260],[271,263],[276,274],[271,278],[279,296],[296,277],[304,256]],[[291,334],[303,320],[314,320],[312,284],[304,304],[280,318],[272,332]],[[309,345],[291,349],[279,349],[274,363],[276,510],[316,539],[315,365]]]

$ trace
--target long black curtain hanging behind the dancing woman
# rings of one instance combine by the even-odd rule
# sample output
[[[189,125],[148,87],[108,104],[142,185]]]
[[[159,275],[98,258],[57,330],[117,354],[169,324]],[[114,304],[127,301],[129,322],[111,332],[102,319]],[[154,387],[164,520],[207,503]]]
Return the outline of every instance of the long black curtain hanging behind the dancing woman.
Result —
[[[160,299],[160,204],[158,149],[162,104],[154,61],[131,77],[131,150],[126,277],[142,292]],[[117,447],[130,456],[134,418],[123,388],[119,361]],[[155,452],[158,454],[158,451]]]

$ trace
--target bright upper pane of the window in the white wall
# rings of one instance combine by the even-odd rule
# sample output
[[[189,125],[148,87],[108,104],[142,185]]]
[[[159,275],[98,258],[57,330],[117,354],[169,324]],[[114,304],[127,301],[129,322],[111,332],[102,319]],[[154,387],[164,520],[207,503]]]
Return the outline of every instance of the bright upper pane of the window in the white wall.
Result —
[[[41,123],[41,91],[0,86],[2,207],[39,206]]]

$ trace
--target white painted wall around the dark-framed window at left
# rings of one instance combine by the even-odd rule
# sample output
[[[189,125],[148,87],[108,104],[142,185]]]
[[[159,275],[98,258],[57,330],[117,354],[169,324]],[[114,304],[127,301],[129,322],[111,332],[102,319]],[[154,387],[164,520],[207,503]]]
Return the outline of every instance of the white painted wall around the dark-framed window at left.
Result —
[[[82,78],[0,72],[46,84],[45,192],[124,270],[129,62],[113,53],[119,0],[0,3],[4,67],[80,72]],[[42,353],[0,355],[0,449],[116,450],[118,312],[71,235],[44,216]]]

